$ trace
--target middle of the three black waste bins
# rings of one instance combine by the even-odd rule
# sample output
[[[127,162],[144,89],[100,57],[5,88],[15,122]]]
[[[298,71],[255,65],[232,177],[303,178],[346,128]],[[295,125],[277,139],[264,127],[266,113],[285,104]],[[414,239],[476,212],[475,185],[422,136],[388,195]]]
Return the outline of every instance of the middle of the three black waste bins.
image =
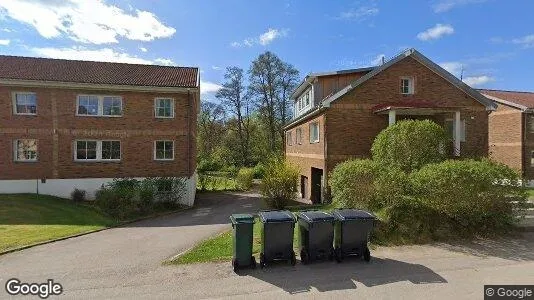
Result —
[[[304,211],[297,213],[297,220],[302,263],[333,259],[334,217],[323,211]]]

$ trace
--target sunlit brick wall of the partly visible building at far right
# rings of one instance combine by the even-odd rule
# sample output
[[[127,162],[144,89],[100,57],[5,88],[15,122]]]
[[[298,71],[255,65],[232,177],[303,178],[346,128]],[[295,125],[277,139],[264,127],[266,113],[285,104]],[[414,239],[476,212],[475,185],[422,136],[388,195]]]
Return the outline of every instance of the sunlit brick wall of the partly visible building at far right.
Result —
[[[489,154],[498,162],[523,172],[523,125],[519,109],[500,104],[489,115]]]

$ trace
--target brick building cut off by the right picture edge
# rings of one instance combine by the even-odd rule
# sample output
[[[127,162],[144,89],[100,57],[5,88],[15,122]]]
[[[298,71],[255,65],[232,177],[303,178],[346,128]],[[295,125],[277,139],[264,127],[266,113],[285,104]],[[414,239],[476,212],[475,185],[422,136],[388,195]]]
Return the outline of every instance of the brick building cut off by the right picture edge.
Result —
[[[499,107],[489,116],[489,154],[532,184],[534,180],[534,93],[479,90]]]

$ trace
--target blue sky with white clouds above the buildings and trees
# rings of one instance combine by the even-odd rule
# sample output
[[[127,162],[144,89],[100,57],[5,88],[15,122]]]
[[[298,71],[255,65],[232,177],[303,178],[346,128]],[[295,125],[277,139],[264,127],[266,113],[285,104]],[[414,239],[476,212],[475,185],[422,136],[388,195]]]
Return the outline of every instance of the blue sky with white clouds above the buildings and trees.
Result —
[[[1,0],[0,54],[224,70],[272,51],[303,78],[415,48],[478,88],[534,91],[534,1]]]

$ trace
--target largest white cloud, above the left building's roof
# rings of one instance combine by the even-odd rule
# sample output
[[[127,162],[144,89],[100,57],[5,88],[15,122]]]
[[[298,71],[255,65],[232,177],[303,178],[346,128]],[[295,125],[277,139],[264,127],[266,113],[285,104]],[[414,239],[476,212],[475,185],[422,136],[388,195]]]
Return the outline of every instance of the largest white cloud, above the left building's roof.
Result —
[[[125,12],[103,0],[2,0],[0,12],[45,38],[66,36],[89,44],[118,43],[117,38],[152,41],[176,32],[151,12]]]

